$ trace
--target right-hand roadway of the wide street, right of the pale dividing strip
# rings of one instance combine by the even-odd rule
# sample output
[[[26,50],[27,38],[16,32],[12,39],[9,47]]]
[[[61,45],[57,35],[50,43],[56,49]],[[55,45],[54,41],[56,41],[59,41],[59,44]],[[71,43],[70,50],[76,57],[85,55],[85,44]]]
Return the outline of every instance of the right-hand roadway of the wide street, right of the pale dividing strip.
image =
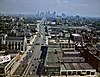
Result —
[[[37,74],[37,70],[38,70],[38,67],[39,67],[39,63],[40,63],[40,57],[41,57],[41,53],[42,51],[41,50],[41,46],[42,45],[45,45],[45,41],[44,41],[44,27],[41,26],[40,27],[40,33],[38,34],[38,37],[36,39],[36,43],[35,43],[35,47],[34,47],[34,57],[32,58],[32,61],[31,61],[31,67],[30,67],[30,70],[29,70],[29,75],[28,77],[39,77]],[[42,34],[41,34],[42,32]],[[36,45],[38,44],[38,45]]]

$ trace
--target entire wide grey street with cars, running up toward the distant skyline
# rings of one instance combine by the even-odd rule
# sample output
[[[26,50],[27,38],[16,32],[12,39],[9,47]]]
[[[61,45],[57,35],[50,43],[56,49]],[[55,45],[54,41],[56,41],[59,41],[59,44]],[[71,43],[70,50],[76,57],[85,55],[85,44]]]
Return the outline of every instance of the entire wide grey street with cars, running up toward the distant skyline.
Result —
[[[44,20],[44,19],[43,19]],[[45,32],[44,27],[42,26],[42,22],[37,24],[38,26],[38,33],[35,36],[34,42],[31,43],[32,46],[29,46],[28,51],[32,51],[30,53],[26,53],[23,59],[20,61],[20,65],[18,66],[17,70],[14,72],[13,75],[17,76],[29,76],[29,77],[38,77],[36,75],[37,69],[40,63],[40,56],[41,56],[41,46],[45,45]]]

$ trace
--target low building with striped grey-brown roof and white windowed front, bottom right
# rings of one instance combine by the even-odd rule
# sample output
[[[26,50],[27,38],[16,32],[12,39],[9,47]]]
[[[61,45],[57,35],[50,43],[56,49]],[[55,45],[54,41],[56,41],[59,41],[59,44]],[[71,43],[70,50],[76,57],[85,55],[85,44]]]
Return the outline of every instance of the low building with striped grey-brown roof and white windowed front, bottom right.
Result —
[[[96,76],[96,70],[88,63],[64,63],[60,69],[60,74],[66,76]]]

